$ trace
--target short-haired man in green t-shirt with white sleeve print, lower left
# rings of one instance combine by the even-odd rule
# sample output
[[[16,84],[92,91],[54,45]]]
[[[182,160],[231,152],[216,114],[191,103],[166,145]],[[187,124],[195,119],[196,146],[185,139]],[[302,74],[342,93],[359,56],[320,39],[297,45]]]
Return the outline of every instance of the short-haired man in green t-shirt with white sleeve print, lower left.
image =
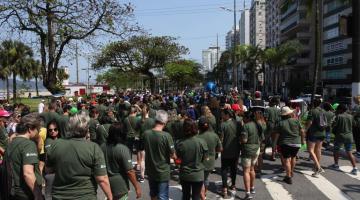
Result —
[[[17,136],[6,149],[5,160],[12,169],[10,199],[43,199],[38,149],[32,141],[39,137],[40,121],[38,113],[30,113],[22,117],[16,126]]]

